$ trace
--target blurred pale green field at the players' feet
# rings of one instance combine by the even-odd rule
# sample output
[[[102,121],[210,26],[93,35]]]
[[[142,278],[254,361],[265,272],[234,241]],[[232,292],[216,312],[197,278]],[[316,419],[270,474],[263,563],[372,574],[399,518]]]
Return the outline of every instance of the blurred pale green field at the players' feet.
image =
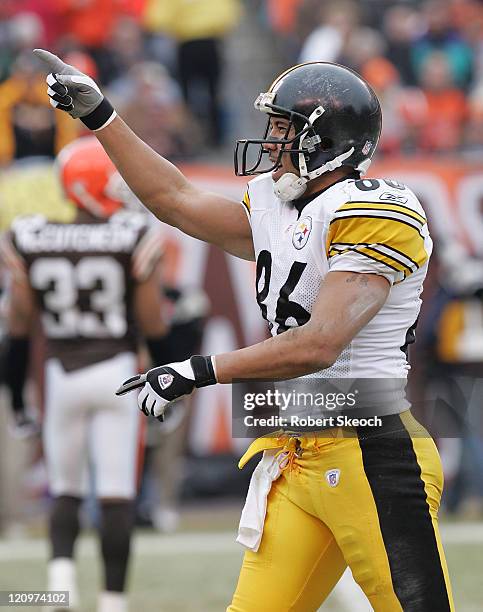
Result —
[[[445,525],[443,537],[456,610],[483,610],[483,524]],[[139,532],[130,574],[130,610],[223,611],[236,583],[241,556],[232,531],[197,530],[170,536]],[[46,558],[47,545],[42,538],[0,540],[0,590],[44,588]],[[100,567],[92,535],[79,542],[78,567],[82,610],[94,612]],[[322,609],[353,612],[355,608],[331,596]]]

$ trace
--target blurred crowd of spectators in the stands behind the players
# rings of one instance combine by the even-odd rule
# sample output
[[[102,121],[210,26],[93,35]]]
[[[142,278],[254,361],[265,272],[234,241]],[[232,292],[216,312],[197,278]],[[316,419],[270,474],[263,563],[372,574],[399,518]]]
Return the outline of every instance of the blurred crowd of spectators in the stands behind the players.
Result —
[[[161,154],[218,147],[230,116],[223,41],[244,10],[274,35],[275,62],[339,62],[369,81],[383,106],[381,154],[483,147],[479,0],[5,0],[0,163],[53,156],[79,129],[50,111],[37,46],[95,78]]]

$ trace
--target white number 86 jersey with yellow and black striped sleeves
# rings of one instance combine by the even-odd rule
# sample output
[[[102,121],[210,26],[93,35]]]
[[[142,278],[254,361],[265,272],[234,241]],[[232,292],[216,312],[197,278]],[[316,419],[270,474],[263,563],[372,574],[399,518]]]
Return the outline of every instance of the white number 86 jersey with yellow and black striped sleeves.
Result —
[[[432,251],[426,215],[414,195],[389,179],[346,179],[303,208],[282,203],[271,175],[250,181],[249,211],[257,261],[257,301],[272,335],[303,325],[325,275],[380,274],[387,301],[334,365],[317,378],[406,378],[423,281]],[[337,296],[334,296],[337,300]]]

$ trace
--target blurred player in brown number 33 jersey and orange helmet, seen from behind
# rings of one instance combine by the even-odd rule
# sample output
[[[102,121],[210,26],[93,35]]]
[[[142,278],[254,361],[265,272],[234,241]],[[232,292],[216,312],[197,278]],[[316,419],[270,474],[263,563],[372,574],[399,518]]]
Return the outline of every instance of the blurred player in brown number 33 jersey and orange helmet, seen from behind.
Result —
[[[98,610],[122,612],[139,419],[132,402],[116,398],[113,381],[136,374],[136,326],[153,362],[162,363],[161,242],[145,214],[122,209],[122,179],[96,138],[71,143],[56,163],[65,194],[77,206],[74,221],[18,218],[2,244],[12,271],[6,382],[16,422],[25,424],[23,386],[38,311],[47,352],[43,442],[54,498],[48,588],[70,591],[76,609],[73,552],[90,466],[105,578]]]

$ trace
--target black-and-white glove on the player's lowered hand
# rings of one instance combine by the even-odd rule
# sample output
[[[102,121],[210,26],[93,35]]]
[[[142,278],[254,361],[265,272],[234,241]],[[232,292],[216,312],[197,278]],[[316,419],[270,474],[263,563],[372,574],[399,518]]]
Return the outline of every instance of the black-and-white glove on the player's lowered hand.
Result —
[[[195,388],[216,384],[211,357],[194,355],[186,361],[168,363],[138,374],[124,381],[116,395],[124,395],[142,387],[138,406],[146,416],[163,420],[166,407],[182,397],[190,395]]]

